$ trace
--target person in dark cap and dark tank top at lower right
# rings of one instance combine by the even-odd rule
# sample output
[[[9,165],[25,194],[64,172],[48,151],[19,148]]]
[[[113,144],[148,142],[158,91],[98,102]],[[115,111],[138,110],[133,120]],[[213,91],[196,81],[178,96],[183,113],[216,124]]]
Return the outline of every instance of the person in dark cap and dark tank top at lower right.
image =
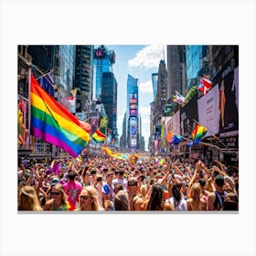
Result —
[[[208,194],[208,210],[221,210],[223,208],[224,199],[227,192],[223,190],[225,183],[224,176],[218,175],[215,177],[215,191]]]

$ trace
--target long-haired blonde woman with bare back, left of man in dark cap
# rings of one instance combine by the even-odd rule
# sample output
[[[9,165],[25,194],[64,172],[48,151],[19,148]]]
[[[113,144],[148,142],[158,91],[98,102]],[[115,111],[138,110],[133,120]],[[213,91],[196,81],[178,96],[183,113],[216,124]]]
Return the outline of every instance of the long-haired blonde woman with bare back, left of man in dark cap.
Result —
[[[187,198],[187,210],[207,210],[207,202],[201,193],[201,185],[196,182],[190,187],[190,197]]]

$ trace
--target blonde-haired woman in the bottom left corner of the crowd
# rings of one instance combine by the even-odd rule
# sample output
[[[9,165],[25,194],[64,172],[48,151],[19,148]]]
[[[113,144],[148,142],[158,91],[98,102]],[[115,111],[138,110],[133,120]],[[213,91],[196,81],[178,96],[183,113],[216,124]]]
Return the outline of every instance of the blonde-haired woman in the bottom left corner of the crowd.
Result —
[[[18,210],[43,210],[34,187],[21,187],[18,195]]]

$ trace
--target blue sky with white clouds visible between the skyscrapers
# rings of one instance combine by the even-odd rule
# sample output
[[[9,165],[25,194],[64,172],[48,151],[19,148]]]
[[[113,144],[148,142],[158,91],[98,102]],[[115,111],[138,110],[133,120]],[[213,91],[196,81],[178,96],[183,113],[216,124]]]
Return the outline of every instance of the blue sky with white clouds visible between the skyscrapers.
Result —
[[[117,94],[117,128],[121,136],[123,115],[126,110],[126,88],[128,74],[138,79],[139,84],[139,112],[142,116],[142,133],[147,149],[150,135],[150,102],[153,101],[153,86],[151,74],[157,72],[158,65],[163,59],[164,46],[142,45],[105,45],[115,52],[113,73],[118,83]],[[166,61],[166,59],[165,59]]]

